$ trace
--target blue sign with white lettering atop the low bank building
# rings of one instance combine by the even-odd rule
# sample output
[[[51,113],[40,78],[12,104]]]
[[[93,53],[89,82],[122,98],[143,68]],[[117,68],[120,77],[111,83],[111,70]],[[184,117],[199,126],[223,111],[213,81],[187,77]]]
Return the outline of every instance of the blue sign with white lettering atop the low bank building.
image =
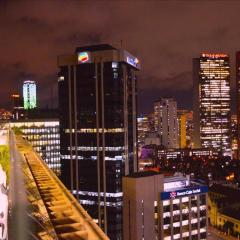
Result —
[[[161,192],[161,200],[192,196],[192,195],[203,194],[207,192],[208,192],[207,186],[185,188],[185,189],[170,191],[170,192]]]

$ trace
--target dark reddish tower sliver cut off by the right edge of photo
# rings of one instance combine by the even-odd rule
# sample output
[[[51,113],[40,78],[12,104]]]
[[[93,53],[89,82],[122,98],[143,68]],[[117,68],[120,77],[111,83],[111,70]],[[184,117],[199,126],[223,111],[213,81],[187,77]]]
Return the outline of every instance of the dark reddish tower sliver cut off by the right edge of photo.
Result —
[[[240,51],[236,53],[236,89],[237,89],[237,135],[238,159],[240,159]]]

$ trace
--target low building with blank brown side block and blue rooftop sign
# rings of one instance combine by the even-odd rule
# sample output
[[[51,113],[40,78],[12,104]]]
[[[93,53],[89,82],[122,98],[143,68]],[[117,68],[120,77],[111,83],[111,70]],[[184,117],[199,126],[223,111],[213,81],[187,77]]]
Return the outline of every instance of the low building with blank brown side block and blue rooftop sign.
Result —
[[[124,240],[207,239],[207,191],[157,172],[124,177]]]

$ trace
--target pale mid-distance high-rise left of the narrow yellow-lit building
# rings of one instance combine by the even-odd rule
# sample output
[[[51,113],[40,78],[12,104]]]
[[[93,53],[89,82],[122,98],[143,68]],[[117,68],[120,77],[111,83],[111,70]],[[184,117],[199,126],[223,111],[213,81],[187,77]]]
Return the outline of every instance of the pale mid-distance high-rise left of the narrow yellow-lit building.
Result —
[[[177,102],[173,98],[161,98],[154,102],[154,125],[161,145],[178,148]]]

